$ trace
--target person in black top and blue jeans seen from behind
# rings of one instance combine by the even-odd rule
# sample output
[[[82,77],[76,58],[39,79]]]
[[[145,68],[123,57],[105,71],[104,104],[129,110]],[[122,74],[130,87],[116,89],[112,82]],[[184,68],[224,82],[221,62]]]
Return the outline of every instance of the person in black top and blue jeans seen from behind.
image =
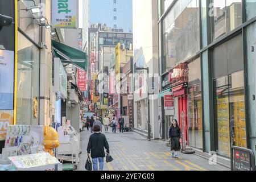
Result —
[[[94,134],[90,135],[89,138],[87,153],[88,157],[92,157],[93,171],[99,171],[98,163],[100,163],[100,171],[103,171],[104,158],[106,156],[104,148],[106,149],[106,154],[109,155],[109,144],[105,135],[101,133],[100,125],[94,125],[93,131]]]

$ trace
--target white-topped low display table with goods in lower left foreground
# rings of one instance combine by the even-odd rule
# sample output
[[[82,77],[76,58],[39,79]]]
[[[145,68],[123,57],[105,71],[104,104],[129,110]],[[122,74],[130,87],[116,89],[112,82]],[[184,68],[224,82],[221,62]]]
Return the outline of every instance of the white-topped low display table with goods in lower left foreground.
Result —
[[[16,171],[62,171],[62,163],[48,152],[9,157]]]

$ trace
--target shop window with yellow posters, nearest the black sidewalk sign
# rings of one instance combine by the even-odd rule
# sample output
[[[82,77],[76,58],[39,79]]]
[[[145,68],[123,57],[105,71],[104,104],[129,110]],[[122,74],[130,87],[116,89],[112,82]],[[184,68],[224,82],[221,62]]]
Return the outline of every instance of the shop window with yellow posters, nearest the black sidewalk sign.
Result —
[[[214,80],[216,151],[230,156],[230,146],[246,147],[243,71]]]

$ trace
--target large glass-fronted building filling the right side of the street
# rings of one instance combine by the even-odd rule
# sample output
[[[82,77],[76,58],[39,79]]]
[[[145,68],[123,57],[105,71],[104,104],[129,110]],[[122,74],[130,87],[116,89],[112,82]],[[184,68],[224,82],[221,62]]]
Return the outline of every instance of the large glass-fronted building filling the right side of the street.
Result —
[[[254,0],[159,0],[162,90],[172,90],[170,118],[185,121],[188,146],[227,158],[232,146],[255,152],[255,7]],[[187,79],[173,84],[178,76]],[[162,113],[169,122],[171,112],[162,106]]]

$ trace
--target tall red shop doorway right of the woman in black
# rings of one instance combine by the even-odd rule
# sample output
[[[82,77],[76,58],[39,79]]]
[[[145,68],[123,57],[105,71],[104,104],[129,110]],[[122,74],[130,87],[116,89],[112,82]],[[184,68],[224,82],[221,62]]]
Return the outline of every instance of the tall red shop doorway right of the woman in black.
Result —
[[[182,126],[181,113],[184,113],[185,126],[184,127],[184,138],[187,145],[188,143],[188,119],[187,119],[187,96],[179,97],[179,126]],[[180,129],[182,131],[182,129]]]

